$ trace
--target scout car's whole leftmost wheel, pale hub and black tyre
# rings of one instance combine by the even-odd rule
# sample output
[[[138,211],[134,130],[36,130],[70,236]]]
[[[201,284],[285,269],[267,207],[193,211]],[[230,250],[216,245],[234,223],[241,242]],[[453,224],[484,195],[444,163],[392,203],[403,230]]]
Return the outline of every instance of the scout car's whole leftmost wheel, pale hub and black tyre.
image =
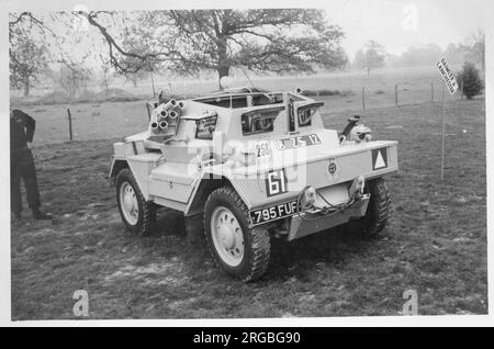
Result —
[[[146,202],[131,169],[122,169],[115,179],[116,201],[125,227],[138,235],[148,235],[156,221],[156,206]]]

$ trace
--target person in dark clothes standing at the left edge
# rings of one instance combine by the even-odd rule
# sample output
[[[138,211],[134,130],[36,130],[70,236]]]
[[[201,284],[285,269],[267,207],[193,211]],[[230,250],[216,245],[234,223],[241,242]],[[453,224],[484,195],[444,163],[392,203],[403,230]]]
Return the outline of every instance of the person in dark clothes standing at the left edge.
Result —
[[[15,221],[22,218],[21,179],[24,181],[27,204],[35,219],[52,219],[40,211],[40,191],[34,168],[31,143],[36,122],[33,117],[14,109],[10,113],[10,210]]]

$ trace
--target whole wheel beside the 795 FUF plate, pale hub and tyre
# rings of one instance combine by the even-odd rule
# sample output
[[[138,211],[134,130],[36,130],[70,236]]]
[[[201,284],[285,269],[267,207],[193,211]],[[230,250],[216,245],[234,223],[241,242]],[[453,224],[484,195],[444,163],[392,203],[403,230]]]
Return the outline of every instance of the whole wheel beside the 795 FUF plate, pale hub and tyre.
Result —
[[[249,228],[248,210],[229,187],[213,191],[204,207],[205,238],[218,267],[245,282],[260,278],[270,258],[270,238],[263,228]]]

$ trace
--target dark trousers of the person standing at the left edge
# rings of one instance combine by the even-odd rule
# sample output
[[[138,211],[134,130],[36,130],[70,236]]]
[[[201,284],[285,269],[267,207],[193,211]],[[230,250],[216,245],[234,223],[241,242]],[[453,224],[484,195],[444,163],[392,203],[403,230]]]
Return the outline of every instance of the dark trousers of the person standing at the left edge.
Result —
[[[33,154],[29,148],[12,149],[10,153],[10,210],[14,214],[22,211],[21,179],[24,181],[30,209],[37,210],[41,205],[40,191]]]

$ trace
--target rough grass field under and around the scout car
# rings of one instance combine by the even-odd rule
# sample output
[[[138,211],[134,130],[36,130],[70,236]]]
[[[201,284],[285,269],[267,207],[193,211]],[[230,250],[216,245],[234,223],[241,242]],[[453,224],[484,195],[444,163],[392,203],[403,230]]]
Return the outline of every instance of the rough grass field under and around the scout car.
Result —
[[[86,106],[101,119],[111,110]],[[344,126],[345,113],[325,112],[326,125]],[[204,247],[188,245],[175,213],[161,214],[149,237],[124,230],[105,180],[116,139],[110,135],[141,131],[144,117],[85,119],[94,138],[109,139],[58,144],[48,144],[63,139],[38,123],[42,199],[57,222],[12,225],[12,318],[74,318],[76,290],[88,292],[90,318],[398,315],[411,289],[422,315],[486,314],[484,100],[449,101],[442,183],[440,103],[372,109],[363,117],[375,138],[400,142],[401,170],[388,178],[389,227],[372,240],[338,229],[273,240],[267,274],[249,284],[215,269]],[[102,131],[108,124],[113,128]]]

